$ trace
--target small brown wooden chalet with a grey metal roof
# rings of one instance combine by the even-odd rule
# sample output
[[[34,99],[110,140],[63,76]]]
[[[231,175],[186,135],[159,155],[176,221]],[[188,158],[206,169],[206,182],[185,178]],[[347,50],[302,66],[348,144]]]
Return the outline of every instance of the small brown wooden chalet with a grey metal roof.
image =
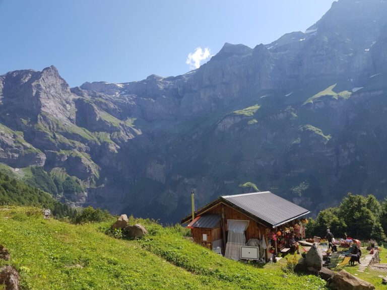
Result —
[[[259,241],[261,257],[267,260],[271,256],[271,247],[276,252],[280,250],[277,240],[268,238],[270,233],[281,229],[293,231],[300,218],[309,212],[265,191],[221,196],[196,210],[193,220],[190,214],[181,223],[189,223],[187,227],[196,243],[209,249],[221,249],[223,255],[235,260],[240,258],[241,245],[246,245],[247,241]],[[297,236],[302,237],[304,233]]]

